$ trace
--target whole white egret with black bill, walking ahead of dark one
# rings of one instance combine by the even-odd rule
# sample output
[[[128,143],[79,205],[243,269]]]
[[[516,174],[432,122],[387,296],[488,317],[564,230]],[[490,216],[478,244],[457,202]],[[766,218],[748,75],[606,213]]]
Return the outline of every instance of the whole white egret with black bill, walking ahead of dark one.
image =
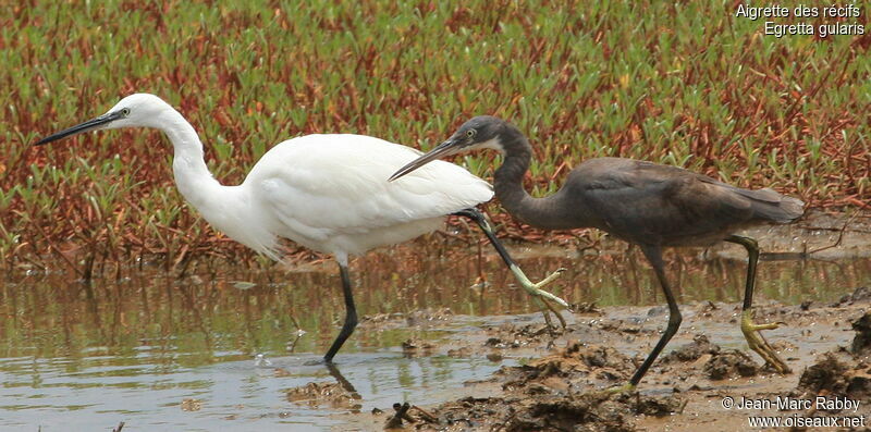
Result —
[[[385,178],[419,151],[363,135],[307,135],[272,147],[238,186],[214,180],[203,144],[191,124],[154,95],[125,97],[106,114],[46,137],[42,145],[96,129],[154,127],[174,147],[175,185],[206,221],[230,238],[275,260],[290,239],[331,254],[339,261],[345,322],[323,357],[331,362],[357,325],[348,275],[348,256],[408,240],[438,230],[447,214],[473,219],[488,236],[520,285],[544,312],[562,317],[548,301],[567,307],[540,289],[561,270],[532,283],[493,235],[474,206],[493,196],[490,185],[452,163],[439,163],[402,183]]]

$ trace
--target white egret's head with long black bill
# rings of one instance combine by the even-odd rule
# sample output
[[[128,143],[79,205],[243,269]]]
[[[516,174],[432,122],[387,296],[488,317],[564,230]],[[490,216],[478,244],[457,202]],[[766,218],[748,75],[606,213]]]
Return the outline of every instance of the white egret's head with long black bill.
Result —
[[[68,136],[83,132],[99,129],[115,129],[120,127],[158,127],[160,113],[167,109],[172,110],[167,102],[155,95],[138,92],[130,95],[115,103],[111,110],[96,119],[58,132],[38,140],[35,146],[41,146]]]

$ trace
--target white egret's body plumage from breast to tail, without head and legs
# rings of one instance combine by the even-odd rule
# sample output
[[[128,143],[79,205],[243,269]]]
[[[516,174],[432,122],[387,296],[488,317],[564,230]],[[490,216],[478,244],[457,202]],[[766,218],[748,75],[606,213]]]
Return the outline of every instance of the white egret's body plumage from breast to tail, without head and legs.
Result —
[[[395,187],[384,181],[418,156],[369,136],[307,135],[273,147],[238,186],[188,178],[186,164],[173,165],[179,189],[209,223],[279,259],[282,237],[320,252],[360,255],[434,231],[446,214],[492,198],[488,183],[446,162]]]

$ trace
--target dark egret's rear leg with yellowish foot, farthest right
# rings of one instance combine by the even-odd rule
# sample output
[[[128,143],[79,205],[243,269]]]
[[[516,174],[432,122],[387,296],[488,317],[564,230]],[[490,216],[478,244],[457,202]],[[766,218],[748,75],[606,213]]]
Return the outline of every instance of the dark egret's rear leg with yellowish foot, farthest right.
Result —
[[[762,359],[769,365],[774,367],[777,372],[789,373],[792,370],[786,362],[781,359],[774,348],[769,345],[768,341],[759,333],[760,330],[777,329],[777,323],[757,324],[753,322],[753,289],[756,287],[756,267],[759,261],[759,246],[756,240],[750,237],[741,237],[732,235],[726,238],[726,242],[735,243],[744,246],[747,249],[747,282],[744,289],[744,306],[741,307],[741,333],[744,338],[747,340],[747,345],[750,349],[759,354]]]

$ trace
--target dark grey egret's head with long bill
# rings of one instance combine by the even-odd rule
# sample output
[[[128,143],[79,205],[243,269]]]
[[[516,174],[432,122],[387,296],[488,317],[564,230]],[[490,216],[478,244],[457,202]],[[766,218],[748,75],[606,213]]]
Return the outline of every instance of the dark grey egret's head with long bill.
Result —
[[[436,146],[432,150],[413,160],[407,165],[393,173],[390,181],[402,177],[409,172],[436,160],[464,151],[491,148],[504,152],[499,137],[511,126],[507,122],[492,115],[479,115],[463,123],[447,140]]]

